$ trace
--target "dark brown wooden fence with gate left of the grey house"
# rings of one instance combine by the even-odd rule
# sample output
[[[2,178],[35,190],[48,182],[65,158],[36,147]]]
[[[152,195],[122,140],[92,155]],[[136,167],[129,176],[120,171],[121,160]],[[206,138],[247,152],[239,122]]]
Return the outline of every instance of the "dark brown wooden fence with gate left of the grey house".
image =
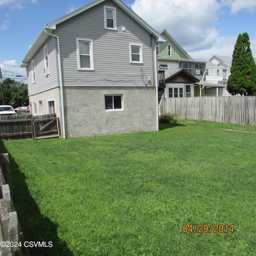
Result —
[[[0,116],[0,140],[28,140],[60,137],[56,114]]]

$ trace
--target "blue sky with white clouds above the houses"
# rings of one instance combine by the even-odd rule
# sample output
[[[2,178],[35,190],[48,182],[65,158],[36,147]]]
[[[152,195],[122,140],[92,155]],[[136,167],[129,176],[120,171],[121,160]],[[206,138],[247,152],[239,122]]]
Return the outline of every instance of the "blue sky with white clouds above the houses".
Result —
[[[29,47],[44,26],[90,0],[0,0],[0,67],[17,78]],[[123,0],[150,26],[166,29],[192,58],[232,56],[239,33],[250,36],[256,57],[256,0]]]

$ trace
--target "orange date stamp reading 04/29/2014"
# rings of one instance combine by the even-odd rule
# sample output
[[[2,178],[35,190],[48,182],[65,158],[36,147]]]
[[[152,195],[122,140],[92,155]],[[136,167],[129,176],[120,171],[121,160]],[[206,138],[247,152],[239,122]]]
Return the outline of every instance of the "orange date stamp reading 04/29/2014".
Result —
[[[228,224],[184,224],[182,231],[183,233],[233,233],[234,224],[231,224],[230,226]]]

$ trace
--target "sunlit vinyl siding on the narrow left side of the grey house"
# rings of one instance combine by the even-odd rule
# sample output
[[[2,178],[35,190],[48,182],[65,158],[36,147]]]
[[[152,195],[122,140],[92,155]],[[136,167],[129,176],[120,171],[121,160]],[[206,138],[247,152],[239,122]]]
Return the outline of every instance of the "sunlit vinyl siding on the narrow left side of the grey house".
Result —
[[[57,54],[55,38],[50,38],[42,47],[42,49],[34,56],[36,82],[32,82],[32,66],[31,61],[28,65],[28,93],[29,95],[38,94],[47,90],[51,90],[58,86],[57,81]],[[44,50],[48,48],[49,74],[44,73]]]

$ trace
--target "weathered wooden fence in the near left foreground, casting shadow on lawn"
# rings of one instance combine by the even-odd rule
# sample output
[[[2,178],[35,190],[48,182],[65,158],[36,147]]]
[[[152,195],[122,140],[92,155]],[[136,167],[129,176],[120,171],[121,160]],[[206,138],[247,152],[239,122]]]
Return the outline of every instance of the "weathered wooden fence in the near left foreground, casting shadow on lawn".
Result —
[[[24,236],[12,203],[12,183],[8,154],[0,154],[0,255],[28,256]],[[6,184],[7,183],[7,184]]]

